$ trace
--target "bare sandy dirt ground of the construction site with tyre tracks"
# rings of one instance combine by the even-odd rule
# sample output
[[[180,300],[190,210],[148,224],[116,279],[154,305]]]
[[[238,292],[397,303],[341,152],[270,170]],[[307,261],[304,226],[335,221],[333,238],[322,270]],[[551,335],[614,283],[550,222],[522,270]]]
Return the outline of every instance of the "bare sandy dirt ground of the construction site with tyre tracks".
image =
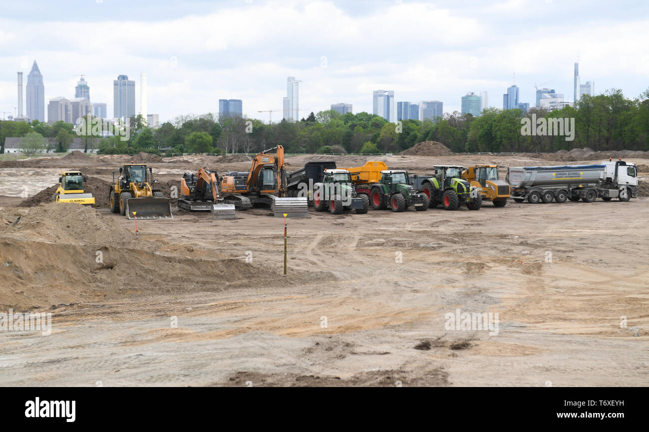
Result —
[[[337,158],[343,168],[367,160]],[[419,173],[548,164],[395,158],[378,160]],[[289,170],[306,160],[289,158]],[[110,181],[120,162],[60,168]],[[167,182],[197,166],[153,168]],[[58,167],[45,178],[22,170],[20,182],[16,170],[0,169],[0,312],[49,312],[52,327],[0,331],[0,385],[649,385],[647,197],[310,209],[288,220],[285,276],[284,224],[269,210],[212,220],[174,206],[173,220],[138,221],[136,240],[134,221],[106,208],[19,207],[23,180],[34,196]],[[458,312],[497,313],[498,325],[449,328]]]

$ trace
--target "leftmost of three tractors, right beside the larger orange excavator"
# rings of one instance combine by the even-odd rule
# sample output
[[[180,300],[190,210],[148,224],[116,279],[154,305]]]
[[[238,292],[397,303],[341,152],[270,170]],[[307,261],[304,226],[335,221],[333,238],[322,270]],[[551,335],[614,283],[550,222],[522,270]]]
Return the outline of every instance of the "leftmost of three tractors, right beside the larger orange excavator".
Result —
[[[317,212],[328,209],[332,214],[341,214],[343,210],[354,210],[356,214],[365,214],[369,199],[356,193],[349,171],[326,169],[323,181],[313,184],[313,207]]]

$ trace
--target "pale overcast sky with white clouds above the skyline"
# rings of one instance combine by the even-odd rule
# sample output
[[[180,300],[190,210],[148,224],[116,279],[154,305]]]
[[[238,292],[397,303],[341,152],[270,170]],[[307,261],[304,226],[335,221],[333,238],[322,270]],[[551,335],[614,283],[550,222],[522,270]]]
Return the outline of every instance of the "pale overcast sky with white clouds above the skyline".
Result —
[[[486,90],[502,108],[513,73],[521,102],[533,106],[534,84],[550,80],[572,101],[577,55],[596,93],[637,97],[649,87],[648,40],[647,1],[0,0],[0,117],[14,113],[16,72],[26,83],[34,60],[46,105],[74,97],[84,74],[108,116],[119,74],[136,81],[140,111],[146,72],[160,121],[217,113],[219,98],[267,121],[258,110],[282,108],[289,75],[302,81],[300,116],[338,102],[372,112],[378,89],[441,100],[445,112]]]

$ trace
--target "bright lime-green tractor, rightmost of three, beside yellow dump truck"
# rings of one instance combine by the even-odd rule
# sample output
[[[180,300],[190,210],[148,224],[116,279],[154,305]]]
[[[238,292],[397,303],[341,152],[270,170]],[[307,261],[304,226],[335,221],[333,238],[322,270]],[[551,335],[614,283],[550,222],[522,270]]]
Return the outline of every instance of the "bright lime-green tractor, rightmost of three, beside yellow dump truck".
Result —
[[[443,205],[445,210],[457,210],[465,204],[469,210],[480,210],[482,195],[476,186],[461,179],[464,169],[458,165],[436,165],[434,176],[416,176],[413,186],[428,197],[431,209]]]

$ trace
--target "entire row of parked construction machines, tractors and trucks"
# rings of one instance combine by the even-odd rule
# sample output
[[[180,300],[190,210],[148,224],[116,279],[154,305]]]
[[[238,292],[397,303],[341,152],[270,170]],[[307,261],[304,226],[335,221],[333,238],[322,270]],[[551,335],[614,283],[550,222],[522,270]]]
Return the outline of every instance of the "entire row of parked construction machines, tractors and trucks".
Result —
[[[318,212],[365,214],[370,208],[402,212],[410,207],[425,211],[466,206],[480,210],[484,201],[504,207],[509,198],[529,203],[593,202],[597,197],[629,201],[638,194],[637,167],[623,160],[509,167],[506,181],[499,179],[497,165],[435,165],[433,169],[433,173],[418,175],[391,170],[380,161],[352,168],[317,161],[286,172],[284,148],[277,146],[258,153],[247,172],[228,171],[219,177],[216,171],[201,168],[184,173],[177,206],[190,212],[211,211],[214,219],[232,219],[235,210],[255,206],[269,207],[278,217],[305,217],[309,203]],[[115,174],[109,191],[112,212],[138,219],[173,218],[171,200],[156,188],[158,181],[150,167],[124,164]],[[84,180],[87,177],[79,171],[62,172],[52,200],[94,205],[92,194],[84,192]]]

